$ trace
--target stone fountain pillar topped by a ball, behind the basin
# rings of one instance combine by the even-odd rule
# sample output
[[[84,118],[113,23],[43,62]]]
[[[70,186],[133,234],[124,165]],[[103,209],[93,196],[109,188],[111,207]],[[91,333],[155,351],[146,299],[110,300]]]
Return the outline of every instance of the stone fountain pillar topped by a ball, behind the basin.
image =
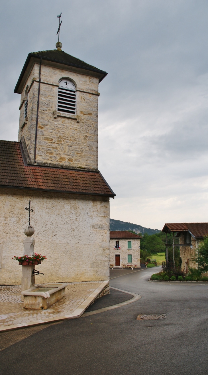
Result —
[[[35,240],[32,237],[34,234],[34,228],[31,225],[28,225],[24,229],[24,234],[27,236],[24,240],[24,254],[29,255],[30,257],[34,256],[34,244]],[[30,289],[35,282],[35,275],[33,275],[34,265],[32,266],[22,266],[22,292],[24,290]],[[23,296],[22,296],[23,300]]]

